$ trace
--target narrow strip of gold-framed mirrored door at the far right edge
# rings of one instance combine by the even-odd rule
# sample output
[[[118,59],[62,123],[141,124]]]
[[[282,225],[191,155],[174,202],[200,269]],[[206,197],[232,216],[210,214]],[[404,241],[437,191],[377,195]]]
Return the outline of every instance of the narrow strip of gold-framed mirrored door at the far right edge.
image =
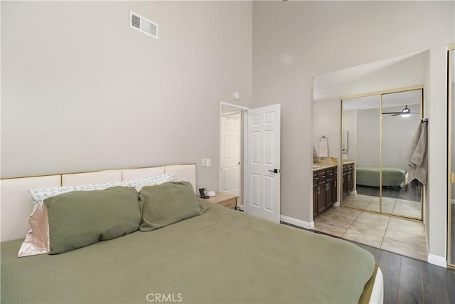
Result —
[[[449,49],[449,82],[448,82],[448,109],[449,109],[449,137],[448,137],[448,239],[447,239],[447,262],[455,268],[455,45]]]

